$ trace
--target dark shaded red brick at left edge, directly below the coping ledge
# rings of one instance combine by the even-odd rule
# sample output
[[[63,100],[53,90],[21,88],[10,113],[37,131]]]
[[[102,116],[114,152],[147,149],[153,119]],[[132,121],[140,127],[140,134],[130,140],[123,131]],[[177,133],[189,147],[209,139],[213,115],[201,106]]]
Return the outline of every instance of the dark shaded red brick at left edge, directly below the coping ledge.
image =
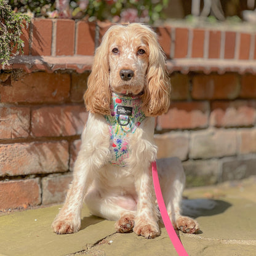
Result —
[[[70,74],[35,72],[12,77],[9,86],[0,84],[0,101],[9,103],[63,102],[70,97]]]

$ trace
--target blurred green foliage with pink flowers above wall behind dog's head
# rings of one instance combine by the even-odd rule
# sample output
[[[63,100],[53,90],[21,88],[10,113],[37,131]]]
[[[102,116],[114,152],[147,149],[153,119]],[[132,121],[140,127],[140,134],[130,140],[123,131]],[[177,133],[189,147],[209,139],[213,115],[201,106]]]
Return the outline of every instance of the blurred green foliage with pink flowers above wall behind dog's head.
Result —
[[[163,18],[162,10],[169,0],[8,0],[12,9],[19,12],[33,12],[34,17],[87,18],[110,20],[111,22],[154,23]],[[68,3],[68,6],[63,2]],[[63,11],[64,10],[64,11]]]

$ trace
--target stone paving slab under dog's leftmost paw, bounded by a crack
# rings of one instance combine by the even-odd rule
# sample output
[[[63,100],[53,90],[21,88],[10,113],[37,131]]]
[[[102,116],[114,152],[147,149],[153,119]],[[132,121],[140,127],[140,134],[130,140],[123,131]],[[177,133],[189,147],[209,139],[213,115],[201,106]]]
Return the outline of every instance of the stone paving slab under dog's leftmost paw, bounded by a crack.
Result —
[[[114,233],[114,222],[90,216],[82,210],[81,231],[57,235],[50,225],[59,206],[15,212],[0,217],[0,252],[7,256],[66,255],[92,246],[105,236]]]

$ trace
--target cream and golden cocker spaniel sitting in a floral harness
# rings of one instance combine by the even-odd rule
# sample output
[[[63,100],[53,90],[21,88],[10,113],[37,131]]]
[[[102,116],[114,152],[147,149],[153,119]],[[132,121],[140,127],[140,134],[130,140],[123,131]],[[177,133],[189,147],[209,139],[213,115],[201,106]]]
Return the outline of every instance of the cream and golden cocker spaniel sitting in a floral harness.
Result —
[[[151,28],[114,25],[95,53],[88,89],[90,111],[65,204],[52,223],[57,234],[77,232],[84,201],[92,214],[116,220],[116,231],[145,238],[160,234],[151,163],[156,159],[154,117],[169,108],[166,58]],[[198,223],[180,215],[185,176],[177,158],[158,161],[172,224],[185,233]]]

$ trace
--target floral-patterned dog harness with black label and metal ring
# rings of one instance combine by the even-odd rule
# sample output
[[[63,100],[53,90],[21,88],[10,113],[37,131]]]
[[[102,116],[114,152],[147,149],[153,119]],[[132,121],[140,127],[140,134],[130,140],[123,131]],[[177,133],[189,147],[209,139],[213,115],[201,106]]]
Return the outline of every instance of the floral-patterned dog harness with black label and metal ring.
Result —
[[[128,137],[146,118],[140,95],[127,96],[112,93],[111,114],[105,116],[110,129],[110,163],[124,167],[129,156]]]

